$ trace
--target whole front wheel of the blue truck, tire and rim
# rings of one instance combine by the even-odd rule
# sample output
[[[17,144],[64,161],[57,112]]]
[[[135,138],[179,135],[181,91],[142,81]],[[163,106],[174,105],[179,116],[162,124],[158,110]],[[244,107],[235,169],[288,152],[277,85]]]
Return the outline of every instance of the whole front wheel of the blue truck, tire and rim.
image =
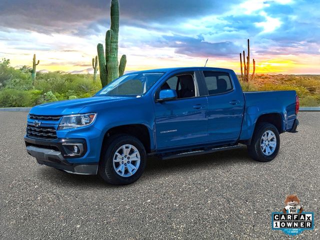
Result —
[[[142,175],[146,153],[136,137],[126,134],[111,136],[102,151],[98,174],[106,182],[114,185],[129,184]]]

